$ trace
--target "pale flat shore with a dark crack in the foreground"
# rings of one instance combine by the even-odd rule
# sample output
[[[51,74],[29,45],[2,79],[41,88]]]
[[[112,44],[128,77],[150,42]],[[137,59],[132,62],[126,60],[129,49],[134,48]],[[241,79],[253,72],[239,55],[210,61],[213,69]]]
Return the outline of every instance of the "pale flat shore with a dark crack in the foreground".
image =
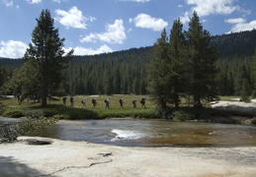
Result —
[[[0,145],[0,176],[253,177],[256,148],[126,148],[86,142]]]

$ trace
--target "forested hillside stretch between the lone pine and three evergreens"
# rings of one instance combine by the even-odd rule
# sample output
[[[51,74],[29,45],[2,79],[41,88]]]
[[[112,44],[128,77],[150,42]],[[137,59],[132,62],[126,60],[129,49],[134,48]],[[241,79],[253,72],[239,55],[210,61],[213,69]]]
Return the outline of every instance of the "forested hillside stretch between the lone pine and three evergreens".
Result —
[[[73,56],[61,88],[67,94],[146,94],[151,47],[94,56]]]

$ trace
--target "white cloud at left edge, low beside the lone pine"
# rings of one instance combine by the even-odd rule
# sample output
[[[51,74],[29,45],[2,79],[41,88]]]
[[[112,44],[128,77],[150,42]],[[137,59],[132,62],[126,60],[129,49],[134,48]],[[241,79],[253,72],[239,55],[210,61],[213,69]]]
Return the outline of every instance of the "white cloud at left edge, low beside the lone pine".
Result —
[[[22,58],[27,48],[28,45],[23,43],[22,41],[0,41],[0,57]]]

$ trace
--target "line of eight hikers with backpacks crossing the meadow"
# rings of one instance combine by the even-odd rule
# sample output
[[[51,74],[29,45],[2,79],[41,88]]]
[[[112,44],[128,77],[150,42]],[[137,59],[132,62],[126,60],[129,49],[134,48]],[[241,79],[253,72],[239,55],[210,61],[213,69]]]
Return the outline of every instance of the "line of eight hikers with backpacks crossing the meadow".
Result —
[[[63,101],[63,105],[64,105],[64,106],[66,106],[66,99],[67,99],[67,97],[63,97],[63,98],[62,98],[62,101]],[[145,99],[146,99],[146,98],[144,98],[144,97],[142,97],[142,98],[140,99],[141,108],[145,108]],[[110,98],[105,99],[104,102],[105,102],[105,108],[106,108],[106,109],[110,109]],[[119,102],[120,102],[120,108],[123,108],[123,109],[124,109],[124,98],[121,98],[121,99],[119,100]],[[85,107],[86,107],[86,99],[83,99],[83,100],[81,101],[81,103],[82,103],[81,108],[85,108]],[[133,100],[131,101],[131,103],[132,103],[132,105],[133,105],[132,108],[136,108],[136,100],[133,99]],[[93,98],[93,99],[92,99],[92,108],[96,108],[96,105],[97,105],[97,99],[96,99],[96,98]],[[73,96],[70,96],[70,107],[74,107],[74,97],[73,97]]]

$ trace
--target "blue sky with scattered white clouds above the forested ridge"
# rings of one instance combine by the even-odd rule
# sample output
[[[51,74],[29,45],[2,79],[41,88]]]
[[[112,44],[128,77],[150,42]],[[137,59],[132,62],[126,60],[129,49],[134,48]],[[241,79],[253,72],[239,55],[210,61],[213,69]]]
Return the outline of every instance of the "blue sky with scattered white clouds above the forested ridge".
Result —
[[[194,10],[213,35],[256,29],[255,8],[255,0],[0,0],[0,57],[23,57],[43,9],[66,51],[93,55],[151,46],[177,18],[188,29]]]

